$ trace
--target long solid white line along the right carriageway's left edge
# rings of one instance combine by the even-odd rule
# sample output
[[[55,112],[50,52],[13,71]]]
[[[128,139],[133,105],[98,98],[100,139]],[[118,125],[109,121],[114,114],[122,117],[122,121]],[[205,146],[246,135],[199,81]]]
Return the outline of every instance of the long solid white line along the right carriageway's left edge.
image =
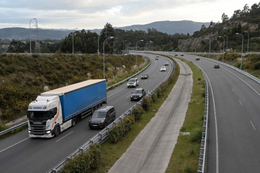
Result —
[[[194,63],[194,64],[196,66],[198,66],[198,64],[196,64],[196,63]],[[204,74],[206,75],[206,77],[207,77],[207,79],[209,81],[209,78],[208,78],[207,74],[205,73],[205,71],[200,66],[198,66],[198,67],[204,72]],[[214,107],[214,118],[215,118],[215,127],[216,127],[216,173],[218,173],[218,168],[219,168],[219,165],[218,165],[218,126],[217,126],[218,124],[217,124],[215,100],[214,100],[213,90],[212,90],[210,81],[209,81],[209,86],[211,88],[213,107]]]

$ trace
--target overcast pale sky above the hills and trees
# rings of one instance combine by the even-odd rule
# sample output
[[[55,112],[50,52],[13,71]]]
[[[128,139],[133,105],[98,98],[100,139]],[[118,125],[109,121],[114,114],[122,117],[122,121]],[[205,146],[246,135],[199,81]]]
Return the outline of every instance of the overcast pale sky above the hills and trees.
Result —
[[[0,28],[103,29],[155,21],[222,22],[255,0],[0,0]],[[36,20],[31,21],[31,28]],[[208,27],[208,26],[206,26]]]

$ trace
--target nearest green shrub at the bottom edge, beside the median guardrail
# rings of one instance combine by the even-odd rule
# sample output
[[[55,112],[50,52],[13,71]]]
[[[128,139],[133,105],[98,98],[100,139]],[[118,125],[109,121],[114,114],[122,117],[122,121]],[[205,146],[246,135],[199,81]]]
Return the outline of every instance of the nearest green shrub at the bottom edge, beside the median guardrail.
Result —
[[[100,161],[101,146],[99,144],[92,144],[87,152],[81,152],[79,155],[68,160],[61,172],[91,172],[100,165]]]

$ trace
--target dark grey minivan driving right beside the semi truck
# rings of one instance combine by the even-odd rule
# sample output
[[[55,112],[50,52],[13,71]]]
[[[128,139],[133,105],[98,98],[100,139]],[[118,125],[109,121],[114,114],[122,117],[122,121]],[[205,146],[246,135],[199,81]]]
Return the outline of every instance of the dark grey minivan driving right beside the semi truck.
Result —
[[[116,119],[116,111],[114,106],[102,106],[96,109],[88,121],[88,127],[105,128],[108,124]]]

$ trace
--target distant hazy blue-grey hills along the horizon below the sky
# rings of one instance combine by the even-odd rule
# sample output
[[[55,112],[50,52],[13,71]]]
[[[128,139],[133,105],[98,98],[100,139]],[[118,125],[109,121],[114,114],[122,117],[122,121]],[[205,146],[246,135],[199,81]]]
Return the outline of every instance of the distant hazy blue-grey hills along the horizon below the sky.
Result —
[[[146,31],[148,28],[155,28],[157,31],[167,33],[167,34],[193,34],[194,31],[197,31],[201,28],[202,25],[209,26],[209,22],[193,22],[193,21],[159,21],[148,23],[145,25],[131,25],[125,27],[114,27],[115,29],[123,30],[142,30]],[[85,29],[86,31],[88,29]],[[100,33],[102,29],[92,29],[91,32]],[[61,40],[68,36],[73,30],[70,29],[38,29],[38,38],[39,40],[51,39],[51,40]],[[31,38],[35,39],[36,29],[31,28]],[[0,38],[10,38],[15,40],[26,40],[30,38],[30,29],[28,28],[2,28],[0,29]]]

